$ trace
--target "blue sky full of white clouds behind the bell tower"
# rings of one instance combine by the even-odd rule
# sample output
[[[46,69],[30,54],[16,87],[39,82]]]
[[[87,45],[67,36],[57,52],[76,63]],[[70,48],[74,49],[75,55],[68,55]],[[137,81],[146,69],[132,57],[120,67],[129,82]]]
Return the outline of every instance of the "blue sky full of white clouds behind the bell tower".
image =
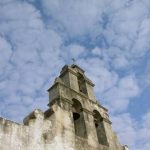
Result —
[[[72,58],[95,83],[113,130],[150,149],[150,0],[0,0],[0,116],[46,110]]]

